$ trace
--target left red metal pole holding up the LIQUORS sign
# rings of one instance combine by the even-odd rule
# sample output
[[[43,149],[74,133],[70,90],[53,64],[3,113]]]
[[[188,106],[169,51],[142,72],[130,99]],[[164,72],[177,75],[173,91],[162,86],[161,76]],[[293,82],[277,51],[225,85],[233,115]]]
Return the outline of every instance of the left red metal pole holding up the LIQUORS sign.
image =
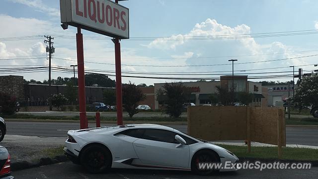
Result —
[[[79,76],[79,120],[80,129],[87,129],[86,118],[86,101],[85,101],[85,76],[84,76],[84,49],[83,49],[83,34],[78,27],[76,34],[76,46],[78,55],[78,76]]]

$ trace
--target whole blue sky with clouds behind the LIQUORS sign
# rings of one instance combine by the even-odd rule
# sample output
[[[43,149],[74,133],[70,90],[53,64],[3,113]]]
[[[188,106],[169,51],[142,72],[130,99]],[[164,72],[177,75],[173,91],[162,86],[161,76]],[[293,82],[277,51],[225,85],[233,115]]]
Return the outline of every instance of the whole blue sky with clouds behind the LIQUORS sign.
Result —
[[[181,37],[201,35],[236,35],[250,33],[313,30],[318,28],[317,0],[128,0],[121,1],[130,9],[131,37]],[[1,0],[0,38],[29,35],[75,36],[76,28],[63,30],[60,25],[59,0]],[[315,27],[316,25],[316,27]],[[99,36],[83,31],[85,36]],[[268,38],[185,41],[129,41],[122,46],[122,64],[127,65],[202,65],[228,63],[229,57],[238,56],[239,62],[255,62],[282,58],[295,58],[318,54],[317,35],[295,35]],[[0,57],[45,57],[43,39],[24,41],[0,40]],[[76,60],[75,39],[55,38],[58,58]],[[110,40],[84,40],[85,61],[114,63],[113,43]],[[316,50],[316,51],[311,51]],[[310,51],[310,52],[304,52]],[[260,55],[259,54],[273,54]],[[247,56],[254,55],[254,56]],[[99,58],[103,57],[103,58]],[[199,57],[199,58],[197,58]],[[219,58],[202,58],[219,57]],[[159,59],[158,59],[159,58]],[[170,59],[169,59],[170,58]],[[239,70],[317,63],[317,57],[300,58],[267,63],[241,64]],[[74,62],[54,59],[54,65],[69,66]],[[45,59],[0,61],[0,65],[47,64]],[[111,65],[88,64],[86,68],[114,70]],[[137,72],[213,72],[229,71],[232,66],[203,67],[136,67],[123,66],[123,71]],[[305,66],[313,70],[314,66]],[[290,71],[276,69],[268,71]],[[21,75],[21,74],[17,74]],[[53,73],[71,77],[72,74]],[[145,75],[147,76],[147,75]],[[180,75],[179,75],[180,76]],[[25,79],[46,80],[47,73],[24,74]],[[196,76],[197,77],[197,76]],[[111,77],[112,78],[112,77]],[[123,82],[151,85],[170,80],[123,78]],[[279,79],[287,81],[289,79]],[[253,80],[259,81],[259,80]]]

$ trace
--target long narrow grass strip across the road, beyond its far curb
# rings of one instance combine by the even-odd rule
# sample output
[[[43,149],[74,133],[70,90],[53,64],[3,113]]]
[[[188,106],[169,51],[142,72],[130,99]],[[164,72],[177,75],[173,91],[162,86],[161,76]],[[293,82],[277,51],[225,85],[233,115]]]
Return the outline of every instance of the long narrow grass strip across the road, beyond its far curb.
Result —
[[[4,119],[35,119],[35,120],[79,120],[79,116],[38,116],[28,114],[13,114],[9,116],[3,116]],[[95,121],[95,116],[87,115],[88,121]],[[116,117],[100,117],[101,121],[117,121]],[[124,117],[124,121],[141,121],[141,122],[186,122],[186,117]]]

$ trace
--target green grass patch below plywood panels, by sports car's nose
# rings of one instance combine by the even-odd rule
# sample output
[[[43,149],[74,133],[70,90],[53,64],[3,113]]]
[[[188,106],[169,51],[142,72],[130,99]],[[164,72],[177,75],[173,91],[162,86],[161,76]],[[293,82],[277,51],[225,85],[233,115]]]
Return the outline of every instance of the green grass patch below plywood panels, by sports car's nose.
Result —
[[[238,158],[278,159],[277,147],[251,147],[247,153],[247,146],[218,145],[233,152]],[[307,148],[283,147],[282,159],[295,161],[318,161],[318,150]]]

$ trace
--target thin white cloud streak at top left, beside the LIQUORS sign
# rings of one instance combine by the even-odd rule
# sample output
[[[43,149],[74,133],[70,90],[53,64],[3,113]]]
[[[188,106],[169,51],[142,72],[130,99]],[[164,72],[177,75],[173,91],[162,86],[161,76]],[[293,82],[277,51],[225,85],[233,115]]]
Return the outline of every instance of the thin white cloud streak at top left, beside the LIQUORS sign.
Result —
[[[49,7],[43,3],[42,0],[10,0],[15,3],[21,3],[29,7],[33,7],[36,10],[48,13],[51,16],[60,16],[60,10],[56,8]]]

